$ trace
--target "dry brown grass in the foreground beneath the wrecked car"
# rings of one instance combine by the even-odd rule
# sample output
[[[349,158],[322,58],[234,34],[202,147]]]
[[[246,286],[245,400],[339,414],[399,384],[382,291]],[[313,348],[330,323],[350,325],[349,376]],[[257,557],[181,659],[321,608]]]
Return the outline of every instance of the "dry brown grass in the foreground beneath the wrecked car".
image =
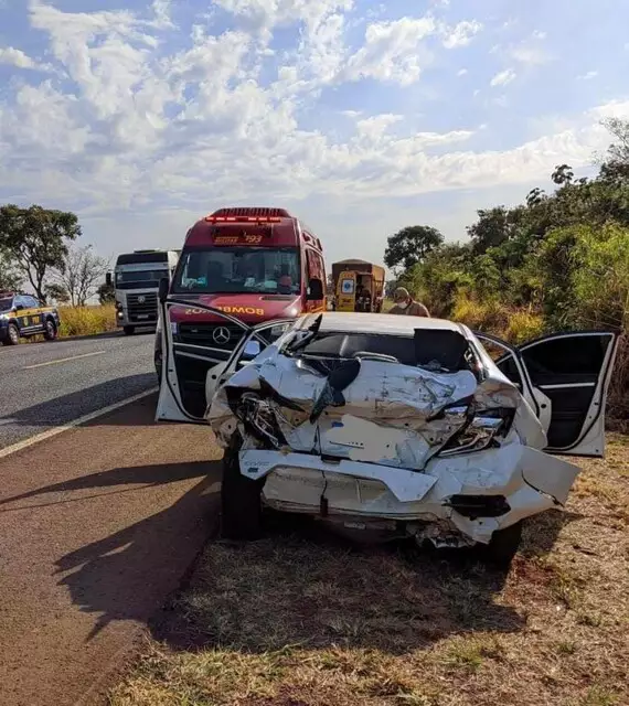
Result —
[[[629,704],[629,440],[507,575],[281,525],[209,545],[113,706]],[[294,528],[294,525],[292,525]]]

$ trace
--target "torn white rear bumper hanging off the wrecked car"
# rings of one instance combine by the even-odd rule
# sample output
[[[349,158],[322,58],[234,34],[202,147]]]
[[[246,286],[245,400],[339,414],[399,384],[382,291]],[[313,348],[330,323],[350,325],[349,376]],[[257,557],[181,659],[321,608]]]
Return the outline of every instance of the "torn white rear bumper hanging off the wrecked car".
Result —
[[[246,478],[266,479],[263,500],[275,510],[348,526],[403,523],[437,546],[452,535],[459,545],[487,544],[495,531],[565,504],[579,472],[519,442],[434,458],[423,471],[258,449],[242,450],[239,466]]]

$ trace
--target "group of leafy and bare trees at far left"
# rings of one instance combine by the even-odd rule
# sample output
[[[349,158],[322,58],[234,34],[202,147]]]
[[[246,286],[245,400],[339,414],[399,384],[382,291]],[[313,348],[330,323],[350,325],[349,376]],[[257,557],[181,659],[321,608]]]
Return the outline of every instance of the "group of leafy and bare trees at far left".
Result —
[[[114,301],[113,289],[102,281],[109,263],[90,245],[78,246],[81,235],[74,213],[0,206],[0,291],[30,286],[43,303],[73,307],[85,306],[95,293],[100,303]]]

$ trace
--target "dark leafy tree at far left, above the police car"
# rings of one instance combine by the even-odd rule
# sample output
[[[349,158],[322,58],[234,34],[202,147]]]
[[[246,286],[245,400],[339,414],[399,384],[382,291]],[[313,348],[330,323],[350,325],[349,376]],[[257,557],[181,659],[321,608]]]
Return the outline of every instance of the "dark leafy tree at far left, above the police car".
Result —
[[[39,299],[45,302],[44,282],[52,269],[63,270],[67,240],[81,235],[74,213],[33,205],[0,206],[0,249],[28,278]]]

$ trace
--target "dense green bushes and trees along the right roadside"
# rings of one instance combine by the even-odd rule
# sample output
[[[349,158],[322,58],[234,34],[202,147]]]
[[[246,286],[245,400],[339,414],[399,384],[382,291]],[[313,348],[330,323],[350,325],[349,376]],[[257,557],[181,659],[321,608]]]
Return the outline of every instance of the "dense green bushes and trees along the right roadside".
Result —
[[[465,243],[428,226],[388,238],[385,263],[433,315],[520,343],[547,332],[616,329],[622,334],[609,394],[618,428],[629,420],[629,122],[611,119],[614,139],[593,179],[568,164],[553,191],[478,211]]]

